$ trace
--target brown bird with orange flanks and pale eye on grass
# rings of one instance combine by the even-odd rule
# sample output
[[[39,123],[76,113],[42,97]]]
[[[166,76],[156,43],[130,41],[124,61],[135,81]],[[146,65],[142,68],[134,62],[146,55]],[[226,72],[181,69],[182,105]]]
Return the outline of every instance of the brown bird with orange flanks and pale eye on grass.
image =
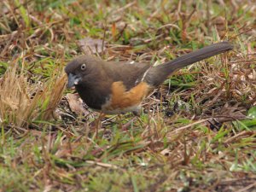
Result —
[[[79,55],[65,67],[67,87],[74,86],[85,104],[100,113],[137,114],[143,100],[172,73],[231,49],[229,42],[219,42],[156,67],[146,62],[103,61],[94,55]]]

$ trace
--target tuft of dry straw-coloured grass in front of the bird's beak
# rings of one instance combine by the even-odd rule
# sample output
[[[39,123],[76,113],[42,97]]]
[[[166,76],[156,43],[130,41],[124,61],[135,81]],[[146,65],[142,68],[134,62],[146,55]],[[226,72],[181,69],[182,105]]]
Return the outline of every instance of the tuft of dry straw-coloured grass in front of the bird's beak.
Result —
[[[12,64],[0,84],[0,125],[24,127],[35,120],[50,119],[61,101],[66,82],[66,75],[62,74],[40,88],[40,83],[30,84],[19,73],[18,65]]]

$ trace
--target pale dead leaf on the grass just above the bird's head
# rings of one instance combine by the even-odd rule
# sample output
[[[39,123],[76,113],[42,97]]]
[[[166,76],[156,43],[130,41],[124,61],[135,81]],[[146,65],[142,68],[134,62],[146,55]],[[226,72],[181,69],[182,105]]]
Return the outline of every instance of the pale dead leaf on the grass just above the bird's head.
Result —
[[[85,55],[102,53],[106,49],[102,39],[83,38],[78,41],[78,44]]]

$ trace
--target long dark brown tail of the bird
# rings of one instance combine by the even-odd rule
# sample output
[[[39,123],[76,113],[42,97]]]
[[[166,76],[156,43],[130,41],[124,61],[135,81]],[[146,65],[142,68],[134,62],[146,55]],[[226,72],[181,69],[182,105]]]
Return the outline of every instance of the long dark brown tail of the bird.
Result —
[[[166,78],[182,67],[189,66],[197,61],[201,61],[213,55],[218,55],[233,49],[233,45],[228,42],[211,44],[205,48],[195,50],[189,54],[182,55],[175,60],[168,61],[157,67],[151,67],[144,77],[144,81],[153,86],[162,84]]]

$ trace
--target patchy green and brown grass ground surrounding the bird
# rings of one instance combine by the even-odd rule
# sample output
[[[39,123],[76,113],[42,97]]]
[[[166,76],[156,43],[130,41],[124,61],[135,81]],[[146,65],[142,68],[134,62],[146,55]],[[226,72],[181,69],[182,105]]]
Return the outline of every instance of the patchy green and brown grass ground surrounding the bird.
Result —
[[[0,191],[255,190],[255,9],[3,0]],[[104,51],[90,51],[108,61],[160,64],[221,40],[235,49],[166,79],[140,117],[102,119],[96,138],[99,114],[72,111],[65,90],[63,67],[83,54],[83,38],[102,39]]]

